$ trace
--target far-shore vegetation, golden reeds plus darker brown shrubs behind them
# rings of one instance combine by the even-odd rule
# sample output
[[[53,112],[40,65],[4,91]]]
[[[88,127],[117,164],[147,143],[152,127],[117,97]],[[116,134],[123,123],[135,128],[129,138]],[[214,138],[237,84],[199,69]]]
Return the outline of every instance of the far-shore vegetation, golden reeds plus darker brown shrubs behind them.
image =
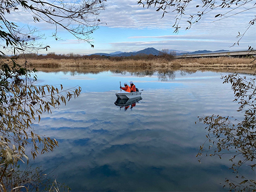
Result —
[[[147,68],[153,70],[171,68],[229,68],[250,69],[253,67],[252,57],[201,57],[176,59],[173,54],[136,55],[136,56],[81,56],[73,53],[58,55],[26,54],[18,59],[27,62],[31,68],[61,68],[61,67],[87,67],[87,68]]]

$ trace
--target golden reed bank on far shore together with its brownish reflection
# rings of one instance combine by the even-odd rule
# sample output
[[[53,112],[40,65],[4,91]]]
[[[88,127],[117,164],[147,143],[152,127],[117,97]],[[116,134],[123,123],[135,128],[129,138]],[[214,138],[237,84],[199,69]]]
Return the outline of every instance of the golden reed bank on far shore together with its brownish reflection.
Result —
[[[108,59],[18,59],[29,68],[44,72],[81,72],[98,73],[112,72],[167,72],[167,71],[212,71],[238,72],[255,75],[256,61],[254,58],[215,57],[215,58],[184,58],[184,59],[154,59],[154,60],[121,60]]]

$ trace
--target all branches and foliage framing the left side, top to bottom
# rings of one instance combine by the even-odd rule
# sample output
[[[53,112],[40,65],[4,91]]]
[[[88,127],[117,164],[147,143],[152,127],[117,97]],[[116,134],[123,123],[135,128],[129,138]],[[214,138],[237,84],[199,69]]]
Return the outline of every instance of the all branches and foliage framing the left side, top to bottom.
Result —
[[[35,120],[39,122],[42,113],[51,113],[52,108],[66,104],[66,100],[79,96],[81,92],[80,87],[64,90],[62,85],[38,86],[34,82],[36,76],[31,76],[36,70],[28,70],[27,60],[18,64],[17,58],[6,57],[8,52],[24,56],[24,53],[50,48],[38,42],[44,35],[37,28],[19,26],[12,16],[23,12],[30,15],[26,15],[26,19],[32,23],[53,26],[56,40],[61,28],[94,47],[90,35],[101,23],[98,15],[105,9],[103,1],[0,1],[0,191],[19,191],[24,187],[12,177],[15,175],[12,170],[17,162],[28,161],[28,145],[32,146],[33,158],[53,151],[58,145],[56,139],[35,133],[31,124]]]

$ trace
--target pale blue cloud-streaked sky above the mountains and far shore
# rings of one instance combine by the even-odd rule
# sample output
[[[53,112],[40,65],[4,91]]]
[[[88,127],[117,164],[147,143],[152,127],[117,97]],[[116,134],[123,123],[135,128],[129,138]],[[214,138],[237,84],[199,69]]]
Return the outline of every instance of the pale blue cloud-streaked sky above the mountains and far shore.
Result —
[[[243,33],[248,23],[255,18],[256,8],[241,12],[226,19],[217,20],[215,15],[224,13],[225,10],[216,9],[203,15],[198,23],[192,25],[189,30],[186,22],[189,14],[196,14],[202,2],[194,0],[186,8],[186,12],[180,23],[178,33],[173,33],[175,23],[175,12],[170,10],[162,18],[162,12],[156,8],[143,8],[136,0],[107,0],[106,8],[98,15],[102,21],[99,29],[91,34],[94,48],[87,42],[78,41],[67,31],[58,30],[61,40],[55,40],[52,36],[55,28],[45,23],[34,23],[31,15],[26,12],[8,15],[9,19],[18,23],[19,26],[36,26],[45,34],[42,42],[49,45],[48,51],[41,50],[38,53],[54,52],[56,54],[92,54],[113,53],[116,51],[134,52],[148,47],[155,49],[169,49],[181,51],[196,50],[247,50],[248,46],[256,47],[256,25],[252,26],[239,42],[239,46],[232,47],[238,39],[238,32]],[[230,15],[252,8],[253,2],[241,8],[231,11]],[[227,10],[226,10],[227,11]]]

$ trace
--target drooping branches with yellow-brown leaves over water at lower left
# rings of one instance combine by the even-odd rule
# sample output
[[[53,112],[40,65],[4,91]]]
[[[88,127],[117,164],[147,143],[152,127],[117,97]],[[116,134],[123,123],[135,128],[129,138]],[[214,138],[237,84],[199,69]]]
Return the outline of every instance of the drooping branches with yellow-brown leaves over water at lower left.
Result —
[[[35,70],[34,70],[35,71]],[[64,90],[62,85],[38,86],[34,84],[36,76],[31,79],[31,71],[10,60],[1,60],[0,68],[0,188],[8,191],[11,167],[18,161],[29,160],[27,146],[31,144],[31,155],[53,151],[58,145],[56,139],[38,135],[32,124],[40,121],[42,113],[51,113],[52,108],[66,104],[72,97],[76,98],[81,88]],[[41,146],[40,149],[38,146]],[[12,173],[12,172],[11,172]],[[14,178],[11,178],[14,180]],[[7,183],[5,183],[7,182]],[[12,183],[12,189],[19,183]]]

